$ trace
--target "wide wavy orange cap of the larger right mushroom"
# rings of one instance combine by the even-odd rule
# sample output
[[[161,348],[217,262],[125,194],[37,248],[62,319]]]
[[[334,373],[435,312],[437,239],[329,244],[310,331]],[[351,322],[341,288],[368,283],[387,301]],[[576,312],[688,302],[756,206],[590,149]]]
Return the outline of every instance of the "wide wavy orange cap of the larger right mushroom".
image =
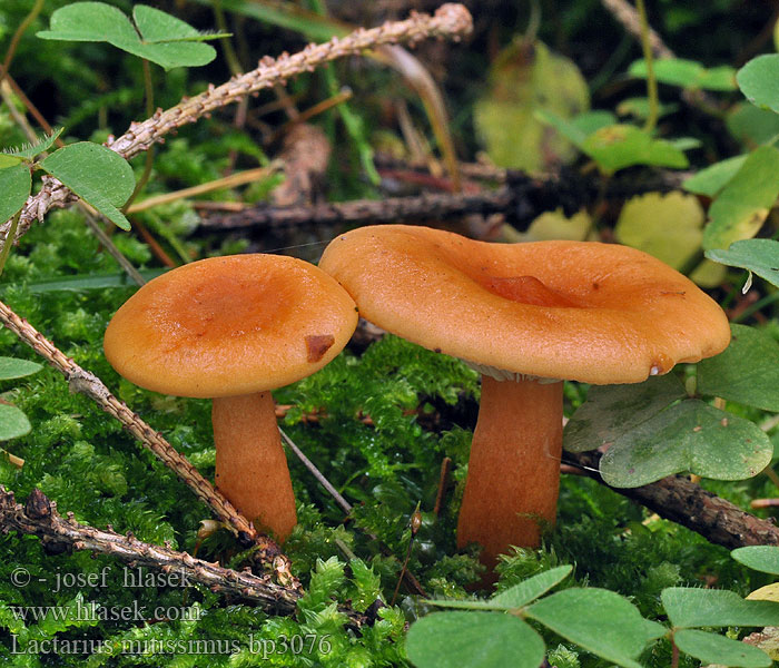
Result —
[[[512,373],[638,383],[730,341],[724,313],[691,281],[614,244],[381,225],[338,236],[319,267],[379,327]]]

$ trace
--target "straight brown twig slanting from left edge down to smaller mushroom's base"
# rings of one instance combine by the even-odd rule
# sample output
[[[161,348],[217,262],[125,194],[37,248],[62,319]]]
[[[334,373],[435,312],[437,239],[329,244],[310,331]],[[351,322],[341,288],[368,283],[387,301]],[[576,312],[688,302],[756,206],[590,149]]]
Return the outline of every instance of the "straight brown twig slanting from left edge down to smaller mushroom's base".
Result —
[[[119,420],[125,428],[141,441],[180,480],[183,480],[199,499],[206,502],[214,513],[245,540],[254,540],[256,532],[246,518],[233,508],[230,502],[208,482],[195,466],[179,453],[161,434],[151,429],[125,403],[114,396],[103,382],[93,373],[81,369],[70,357],[38,332],[30,323],[19,317],[6,304],[0,302],[0,323],[32,347],[49,364],[65,375],[71,392],[80,392],[95,401],[103,411]],[[268,539],[268,549],[280,553],[275,543]]]

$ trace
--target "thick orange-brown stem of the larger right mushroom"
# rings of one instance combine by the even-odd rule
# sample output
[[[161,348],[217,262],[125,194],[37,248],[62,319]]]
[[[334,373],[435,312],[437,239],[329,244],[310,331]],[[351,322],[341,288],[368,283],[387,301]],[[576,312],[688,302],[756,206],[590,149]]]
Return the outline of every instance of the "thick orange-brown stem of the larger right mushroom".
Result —
[[[482,375],[482,401],[457,523],[457,546],[483,546],[490,569],[509,546],[538,548],[558,508],[562,382]]]

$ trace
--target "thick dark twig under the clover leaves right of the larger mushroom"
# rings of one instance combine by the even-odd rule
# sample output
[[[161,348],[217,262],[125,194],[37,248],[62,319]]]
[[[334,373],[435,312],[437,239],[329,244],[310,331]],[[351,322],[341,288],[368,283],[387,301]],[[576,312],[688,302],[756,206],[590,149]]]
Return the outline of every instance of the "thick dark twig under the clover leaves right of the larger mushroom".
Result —
[[[563,453],[565,462],[580,466],[590,478],[607,484],[598,473],[600,458],[599,452]],[[669,475],[640,488],[609,489],[726,548],[779,544],[779,527],[749,514],[683,475]]]

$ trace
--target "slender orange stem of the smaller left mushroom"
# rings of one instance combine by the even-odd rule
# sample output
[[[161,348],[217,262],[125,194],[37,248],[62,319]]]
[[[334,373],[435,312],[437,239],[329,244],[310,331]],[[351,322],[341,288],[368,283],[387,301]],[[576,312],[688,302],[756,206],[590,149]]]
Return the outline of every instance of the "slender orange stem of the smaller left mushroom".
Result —
[[[284,542],[297,514],[270,392],[215,399],[211,422],[216,485],[255,528]]]

